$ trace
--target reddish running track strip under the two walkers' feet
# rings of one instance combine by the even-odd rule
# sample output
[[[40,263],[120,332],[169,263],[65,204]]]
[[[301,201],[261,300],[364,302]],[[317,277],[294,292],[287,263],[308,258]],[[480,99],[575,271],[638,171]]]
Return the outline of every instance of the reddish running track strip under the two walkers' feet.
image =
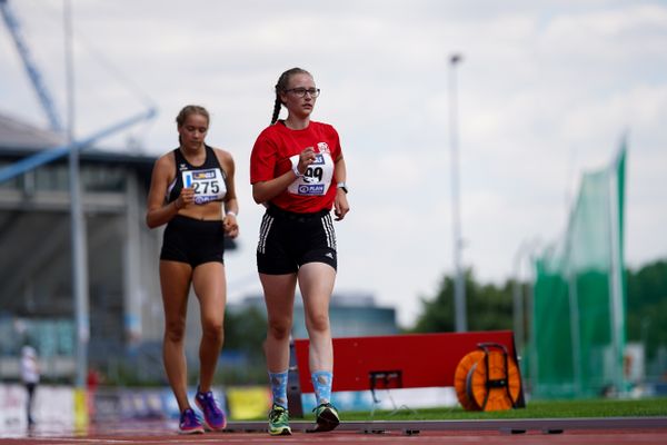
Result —
[[[176,423],[148,421],[94,425],[81,432],[39,425],[6,431],[0,444],[667,444],[667,417],[512,421],[349,422],[330,433],[311,434],[310,424],[291,423],[293,435],[271,437],[265,423],[230,423],[223,433],[182,436]]]

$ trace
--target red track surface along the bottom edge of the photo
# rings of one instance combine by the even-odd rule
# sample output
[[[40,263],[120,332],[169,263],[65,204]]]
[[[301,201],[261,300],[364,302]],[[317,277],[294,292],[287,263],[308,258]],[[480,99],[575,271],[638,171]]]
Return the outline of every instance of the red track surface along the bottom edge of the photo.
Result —
[[[613,424],[613,422],[610,422]],[[260,427],[261,424],[255,424]],[[64,431],[51,426],[38,426],[31,432],[9,431],[0,434],[0,444],[38,444],[38,445],[63,445],[63,444],[311,444],[311,443],[341,443],[341,444],[667,444],[667,418],[657,419],[656,427],[645,428],[641,422],[634,427],[626,422],[623,428],[601,428],[598,426],[587,429],[585,425],[578,424],[571,429],[564,427],[561,432],[549,434],[539,429],[475,429],[475,424],[442,424],[439,429],[437,425],[429,424],[428,429],[418,434],[407,435],[405,428],[389,427],[382,432],[372,433],[371,429],[362,427],[364,424],[342,424],[341,429],[330,433],[309,434],[297,425],[291,436],[271,437],[267,433],[248,431],[246,427],[235,432],[207,433],[183,436],[176,434],[175,422],[132,422],[122,424],[96,425],[87,431]],[[384,423],[384,426],[390,425]],[[404,427],[409,424],[396,424]],[[375,429],[372,429],[375,431]]]

